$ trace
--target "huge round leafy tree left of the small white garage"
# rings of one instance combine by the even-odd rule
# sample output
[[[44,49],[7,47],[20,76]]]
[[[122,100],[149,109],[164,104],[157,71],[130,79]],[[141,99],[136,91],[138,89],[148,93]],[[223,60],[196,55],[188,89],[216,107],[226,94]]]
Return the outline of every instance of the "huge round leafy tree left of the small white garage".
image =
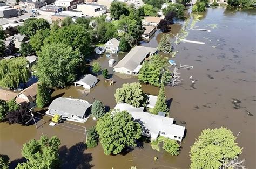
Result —
[[[38,52],[35,75],[48,87],[62,88],[75,81],[80,64],[80,52],[74,51],[68,44],[46,44]]]

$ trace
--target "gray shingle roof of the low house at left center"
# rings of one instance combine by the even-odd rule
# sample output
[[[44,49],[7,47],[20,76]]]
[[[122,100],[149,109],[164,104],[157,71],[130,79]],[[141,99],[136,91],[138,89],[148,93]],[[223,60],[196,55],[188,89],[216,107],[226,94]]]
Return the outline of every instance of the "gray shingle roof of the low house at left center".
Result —
[[[70,98],[59,97],[52,101],[48,109],[83,117],[86,110],[90,108],[91,105],[92,104],[80,102]]]

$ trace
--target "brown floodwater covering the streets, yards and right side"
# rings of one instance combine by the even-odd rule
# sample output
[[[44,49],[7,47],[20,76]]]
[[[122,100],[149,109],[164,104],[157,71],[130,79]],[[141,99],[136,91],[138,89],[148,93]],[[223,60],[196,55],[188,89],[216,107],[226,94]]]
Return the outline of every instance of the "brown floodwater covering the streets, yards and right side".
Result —
[[[154,151],[150,144],[143,148],[136,147],[124,154],[105,156],[100,145],[94,149],[85,149],[84,128],[95,125],[91,118],[84,124],[64,122],[49,126],[50,117],[38,119],[35,125],[20,126],[0,123],[0,153],[10,158],[11,166],[21,159],[22,144],[28,140],[38,139],[41,135],[57,135],[62,145],[60,158],[63,168],[188,168],[190,164],[189,151],[201,130],[225,126],[237,137],[240,147],[243,147],[240,159],[245,159],[248,168],[255,168],[255,10],[233,11],[225,8],[209,8],[205,16],[196,23],[201,29],[211,29],[211,32],[190,30],[187,40],[203,41],[205,45],[180,43],[176,50],[177,64],[192,65],[193,69],[179,69],[182,84],[177,87],[166,87],[166,98],[170,105],[169,116],[185,121],[186,137],[181,144],[179,156],[172,157],[163,150]],[[212,24],[212,25],[211,25]],[[180,25],[172,25],[171,33],[176,34]],[[142,45],[156,47],[161,33],[157,32],[150,43]],[[105,83],[101,76],[96,87],[86,94],[83,88],[71,86],[55,90],[55,97],[83,98],[90,103],[98,99],[107,109],[116,104],[114,91],[123,83],[138,82],[136,77],[113,74],[107,60],[113,58],[119,61],[125,53],[106,58],[92,57],[107,68],[116,81],[112,86]],[[172,70],[174,67],[171,67]],[[190,76],[196,81],[191,86]],[[146,93],[157,95],[159,88],[143,85]],[[240,104],[234,105],[232,99],[238,99]],[[40,112],[44,110],[36,109]],[[252,115],[248,115],[247,112]],[[240,132],[240,135],[237,134]],[[154,161],[154,156],[159,160]]]

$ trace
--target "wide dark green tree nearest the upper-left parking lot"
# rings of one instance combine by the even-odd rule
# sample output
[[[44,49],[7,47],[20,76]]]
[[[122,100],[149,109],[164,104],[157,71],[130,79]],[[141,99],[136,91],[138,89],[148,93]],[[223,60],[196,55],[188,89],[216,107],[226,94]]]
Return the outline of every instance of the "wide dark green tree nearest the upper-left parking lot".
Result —
[[[37,33],[39,30],[45,30],[49,29],[50,24],[48,23],[47,20],[45,19],[36,19],[36,18],[29,18],[26,19],[25,22],[23,23],[23,26],[20,26],[18,28],[19,32],[21,34],[25,34],[26,36],[33,36]]]

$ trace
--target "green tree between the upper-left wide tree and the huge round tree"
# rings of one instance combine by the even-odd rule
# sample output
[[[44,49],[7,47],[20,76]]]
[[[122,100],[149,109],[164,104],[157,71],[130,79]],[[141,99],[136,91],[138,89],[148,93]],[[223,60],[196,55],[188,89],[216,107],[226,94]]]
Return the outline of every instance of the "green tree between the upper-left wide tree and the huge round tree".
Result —
[[[50,29],[39,30],[35,35],[30,38],[30,45],[33,50],[41,51],[41,47],[44,45],[44,39],[50,35]]]

